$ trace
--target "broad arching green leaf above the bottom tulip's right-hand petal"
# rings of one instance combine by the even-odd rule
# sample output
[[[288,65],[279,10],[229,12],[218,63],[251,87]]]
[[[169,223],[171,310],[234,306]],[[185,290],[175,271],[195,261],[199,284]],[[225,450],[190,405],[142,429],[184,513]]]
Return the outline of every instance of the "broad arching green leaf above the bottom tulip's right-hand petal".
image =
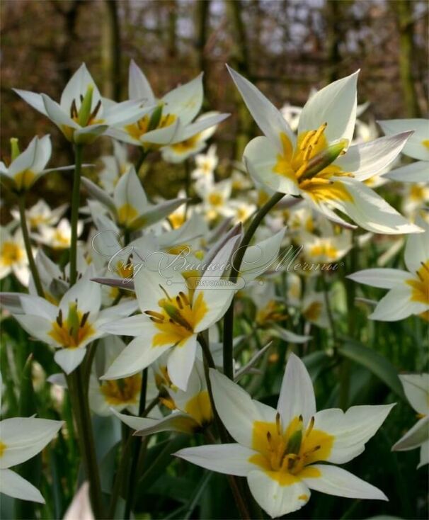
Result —
[[[378,352],[369,349],[357,341],[348,340],[338,349],[345,358],[358,363],[382,380],[396,395],[405,399],[404,390],[399,380],[396,368]]]

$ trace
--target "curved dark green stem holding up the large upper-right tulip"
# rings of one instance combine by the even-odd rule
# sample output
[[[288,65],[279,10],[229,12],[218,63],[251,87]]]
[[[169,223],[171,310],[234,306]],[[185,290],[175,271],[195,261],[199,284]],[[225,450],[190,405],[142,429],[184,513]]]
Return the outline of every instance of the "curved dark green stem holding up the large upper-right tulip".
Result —
[[[241,240],[240,247],[234,256],[234,260],[232,262],[231,274],[229,275],[229,280],[232,282],[236,282],[237,276],[240,272],[241,262],[243,261],[244,254],[246,253],[246,249],[248,244],[250,244],[251,239],[253,238],[253,234],[255,234],[258,226],[263,221],[265,215],[285,196],[285,193],[274,193],[274,195],[268,200],[258,213],[253,217],[251,225],[249,225],[248,230],[244,234],[243,239]],[[234,378],[234,359],[233,359],[233,334],[234,334],[234,298],[231,301],[231,305],[229,305],[229,309],[227,310],[224,317],[224,374],[227,375],[229,379]]]

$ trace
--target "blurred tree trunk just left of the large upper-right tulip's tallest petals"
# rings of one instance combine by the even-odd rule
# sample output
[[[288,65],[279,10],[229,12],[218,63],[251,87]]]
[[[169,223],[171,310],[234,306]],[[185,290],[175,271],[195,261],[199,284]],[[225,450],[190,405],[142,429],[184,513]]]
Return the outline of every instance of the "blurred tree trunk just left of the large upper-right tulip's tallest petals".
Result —
[[[247,35],[243,19],[241,18],[243,5],[241,4],[241,0],[226,0],[225,4],[227,7],[229,30],[233,36],[229,63],[231,64],[231,67],[236,69],[240,74],[243,74],[244,77],[251,79]],[[234,143],[233,157],[234,159],[241,160],[244,148],[252,137],[253,118],[248,112],[237,89],[234,89],[234,94],[236,100],[236,113],[238,115],[238,128]]]

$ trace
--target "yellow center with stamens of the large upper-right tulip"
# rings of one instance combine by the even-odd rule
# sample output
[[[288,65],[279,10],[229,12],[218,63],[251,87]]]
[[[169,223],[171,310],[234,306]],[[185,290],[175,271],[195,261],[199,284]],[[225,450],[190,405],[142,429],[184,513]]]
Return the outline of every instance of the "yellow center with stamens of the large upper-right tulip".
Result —
[[[317,130],[302,132],[298,136],[297,147],[293,149],[287,135],[280,134],[283,153],[278,154],[273,171],[296,182],[316,202],[345,200],[353,202],[348,190],[338,181],[331,181],[332,176],[353,176],[342,171],[339,166],[329,164],[343,153],[345,140],[336,145],[328,145],[324,135],[327,124]]]

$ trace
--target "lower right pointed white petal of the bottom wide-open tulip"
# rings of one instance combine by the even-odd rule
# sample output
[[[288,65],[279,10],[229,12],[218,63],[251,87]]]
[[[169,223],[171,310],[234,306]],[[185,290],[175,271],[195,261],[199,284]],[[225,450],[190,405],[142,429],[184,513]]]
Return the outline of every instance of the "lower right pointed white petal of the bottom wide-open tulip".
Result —
[[[304,482],[311,490],[333,494],[336,497],[388,500],[386,495],[377,487],[355,477],[343,468],[328,464],[315,464],[311,467],[321,473],[319,477],[304,478]]]

